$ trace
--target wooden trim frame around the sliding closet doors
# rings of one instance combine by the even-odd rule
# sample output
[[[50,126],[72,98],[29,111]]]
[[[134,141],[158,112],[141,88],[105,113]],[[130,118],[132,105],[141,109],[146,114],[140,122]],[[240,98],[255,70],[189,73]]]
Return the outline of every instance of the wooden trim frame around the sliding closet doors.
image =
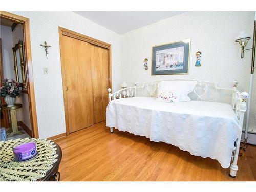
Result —
[[[64,99],[64,108],[65,108],[65,123],[66,123],[66,135],[70,134],[69,131],[69,118],[68,118],[68,104],[67,104],[67,93],[66,93],[66,77],[65,77],[65,65],[64,65],[64,57],[63,57],[63,39],[62,36],[72,37],[78,40],[82,40],[84,42],[88,42],[90,44],[103,47],[108,49],[108,84],[109,87],[112,88],[112,74],[111,74],[111,45],[100,41],[98,39],[77,33],[75,31],[71,31],[69,29],[65,29],[59,27],[59,50],[60,50],[60,61],[61,61],[61,74],[62,74],[62,86],[63,86],[63,99]]]

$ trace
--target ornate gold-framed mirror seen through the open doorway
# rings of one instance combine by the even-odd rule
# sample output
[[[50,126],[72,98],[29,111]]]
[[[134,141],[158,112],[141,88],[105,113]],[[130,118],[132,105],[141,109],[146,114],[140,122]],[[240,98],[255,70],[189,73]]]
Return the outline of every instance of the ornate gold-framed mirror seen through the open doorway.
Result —
[[[14,56],[14,71],[16,74],[16,81],[23,83],[23,88],[27,88],[25,77],[25,64],[23,57],[23,41],[19,40],[15,47],[12,48]]]

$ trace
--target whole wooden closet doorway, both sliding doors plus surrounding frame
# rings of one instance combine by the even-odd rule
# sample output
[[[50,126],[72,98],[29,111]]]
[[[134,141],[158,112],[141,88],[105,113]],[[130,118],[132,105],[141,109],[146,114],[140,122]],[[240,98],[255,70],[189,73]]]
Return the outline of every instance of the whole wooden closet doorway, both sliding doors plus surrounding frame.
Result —
[[[59,27],[66,134],[105,121],[111,45]]]

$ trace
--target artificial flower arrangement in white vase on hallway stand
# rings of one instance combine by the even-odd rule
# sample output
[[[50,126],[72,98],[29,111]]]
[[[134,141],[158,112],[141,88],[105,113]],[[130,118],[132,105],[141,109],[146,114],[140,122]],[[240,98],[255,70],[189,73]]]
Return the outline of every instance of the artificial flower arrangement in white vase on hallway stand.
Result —
[[[19,83],[13,79],[4,79],[2,87],[0,87],[0,97],[5,98],[8,106],[13,106],[15,98],[22,94],[23,83]]]

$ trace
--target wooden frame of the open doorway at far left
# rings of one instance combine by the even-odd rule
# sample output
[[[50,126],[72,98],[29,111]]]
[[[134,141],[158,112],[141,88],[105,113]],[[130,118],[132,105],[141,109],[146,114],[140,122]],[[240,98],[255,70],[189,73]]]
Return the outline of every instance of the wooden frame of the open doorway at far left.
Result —
[[[5,18],[23,25],[24,36],[24,58],[25,58],[25,73],[28,84],[28,99],[29,99],[29,112],[31,120],[32,137],[38,138],[38,126],[36,116],[35,104],[35,91],[33,80],[32,56],[31,56],[31,43],[30,43],[30,28],[29,19],[6,11],[0,11],[0,18]]]

